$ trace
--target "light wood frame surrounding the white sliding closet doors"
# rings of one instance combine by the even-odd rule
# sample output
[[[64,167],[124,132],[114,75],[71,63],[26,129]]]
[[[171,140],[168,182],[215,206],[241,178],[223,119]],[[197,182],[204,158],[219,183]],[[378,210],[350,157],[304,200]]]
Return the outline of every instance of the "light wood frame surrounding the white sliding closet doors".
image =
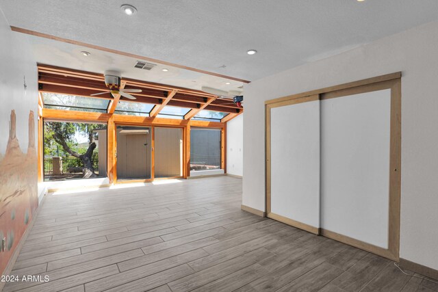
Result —
[[[324,235],[331,239],[341,241],[348,245],[361,248],[368,252],[384,256],[392,261],[400,258],[400,183],[401,183],[401,72],[373,77],[335,85],[320,90],[312,90],[293,94],[283,98],[275,98],[265,102],[265,155],[266,155],[266,215],[285,224],[296,226],[311,233]],[[307,224],[290,220],[289,218],[273,214],[271,212],[271,109],[297,103],[315,101],[315,96],[322,101],[329,98],[348,96],[377,90],[391,90],[391,113],[390,113],[390,143],[389,143],[389,222],[388,222],[388,248],[381,248],[358,239],[334,233],[331,230],[320,228],[315,230]]]

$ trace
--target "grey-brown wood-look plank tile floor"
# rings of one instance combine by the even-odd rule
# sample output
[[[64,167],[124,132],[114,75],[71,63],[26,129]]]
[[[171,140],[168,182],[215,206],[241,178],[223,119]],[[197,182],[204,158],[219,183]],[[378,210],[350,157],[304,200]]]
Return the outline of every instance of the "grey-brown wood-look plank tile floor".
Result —
[[[50,280],[3,291],[438,291],[385,258],[241,211],[241,197],[230,176],[49,194],[12,274]]]

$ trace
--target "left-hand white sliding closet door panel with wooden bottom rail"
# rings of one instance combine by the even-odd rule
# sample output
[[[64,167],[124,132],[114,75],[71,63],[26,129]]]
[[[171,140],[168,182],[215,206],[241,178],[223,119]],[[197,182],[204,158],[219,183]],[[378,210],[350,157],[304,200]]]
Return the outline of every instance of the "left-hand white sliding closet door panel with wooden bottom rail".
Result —
[[[320,101],[270,109],[268,217],[318,233]]]

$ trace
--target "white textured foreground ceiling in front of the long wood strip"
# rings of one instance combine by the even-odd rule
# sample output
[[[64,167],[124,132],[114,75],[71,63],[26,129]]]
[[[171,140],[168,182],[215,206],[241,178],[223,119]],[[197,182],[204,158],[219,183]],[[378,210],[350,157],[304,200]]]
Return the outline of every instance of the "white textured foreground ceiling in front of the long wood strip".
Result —
[[[127,0],[133,16],[124,3],[0,0],[0,8],[14,27],[250,81],[438,20],[437,0]]]

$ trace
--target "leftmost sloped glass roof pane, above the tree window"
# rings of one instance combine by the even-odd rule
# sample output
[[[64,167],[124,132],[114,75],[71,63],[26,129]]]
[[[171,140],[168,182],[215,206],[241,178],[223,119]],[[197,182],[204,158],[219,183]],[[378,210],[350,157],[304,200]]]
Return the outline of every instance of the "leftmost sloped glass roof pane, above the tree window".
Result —
[[[42,92],[44,107],[52,109],[70,109],[77,111],[106,111],[110,101],[105,98],[92,98],[68,94]]]

